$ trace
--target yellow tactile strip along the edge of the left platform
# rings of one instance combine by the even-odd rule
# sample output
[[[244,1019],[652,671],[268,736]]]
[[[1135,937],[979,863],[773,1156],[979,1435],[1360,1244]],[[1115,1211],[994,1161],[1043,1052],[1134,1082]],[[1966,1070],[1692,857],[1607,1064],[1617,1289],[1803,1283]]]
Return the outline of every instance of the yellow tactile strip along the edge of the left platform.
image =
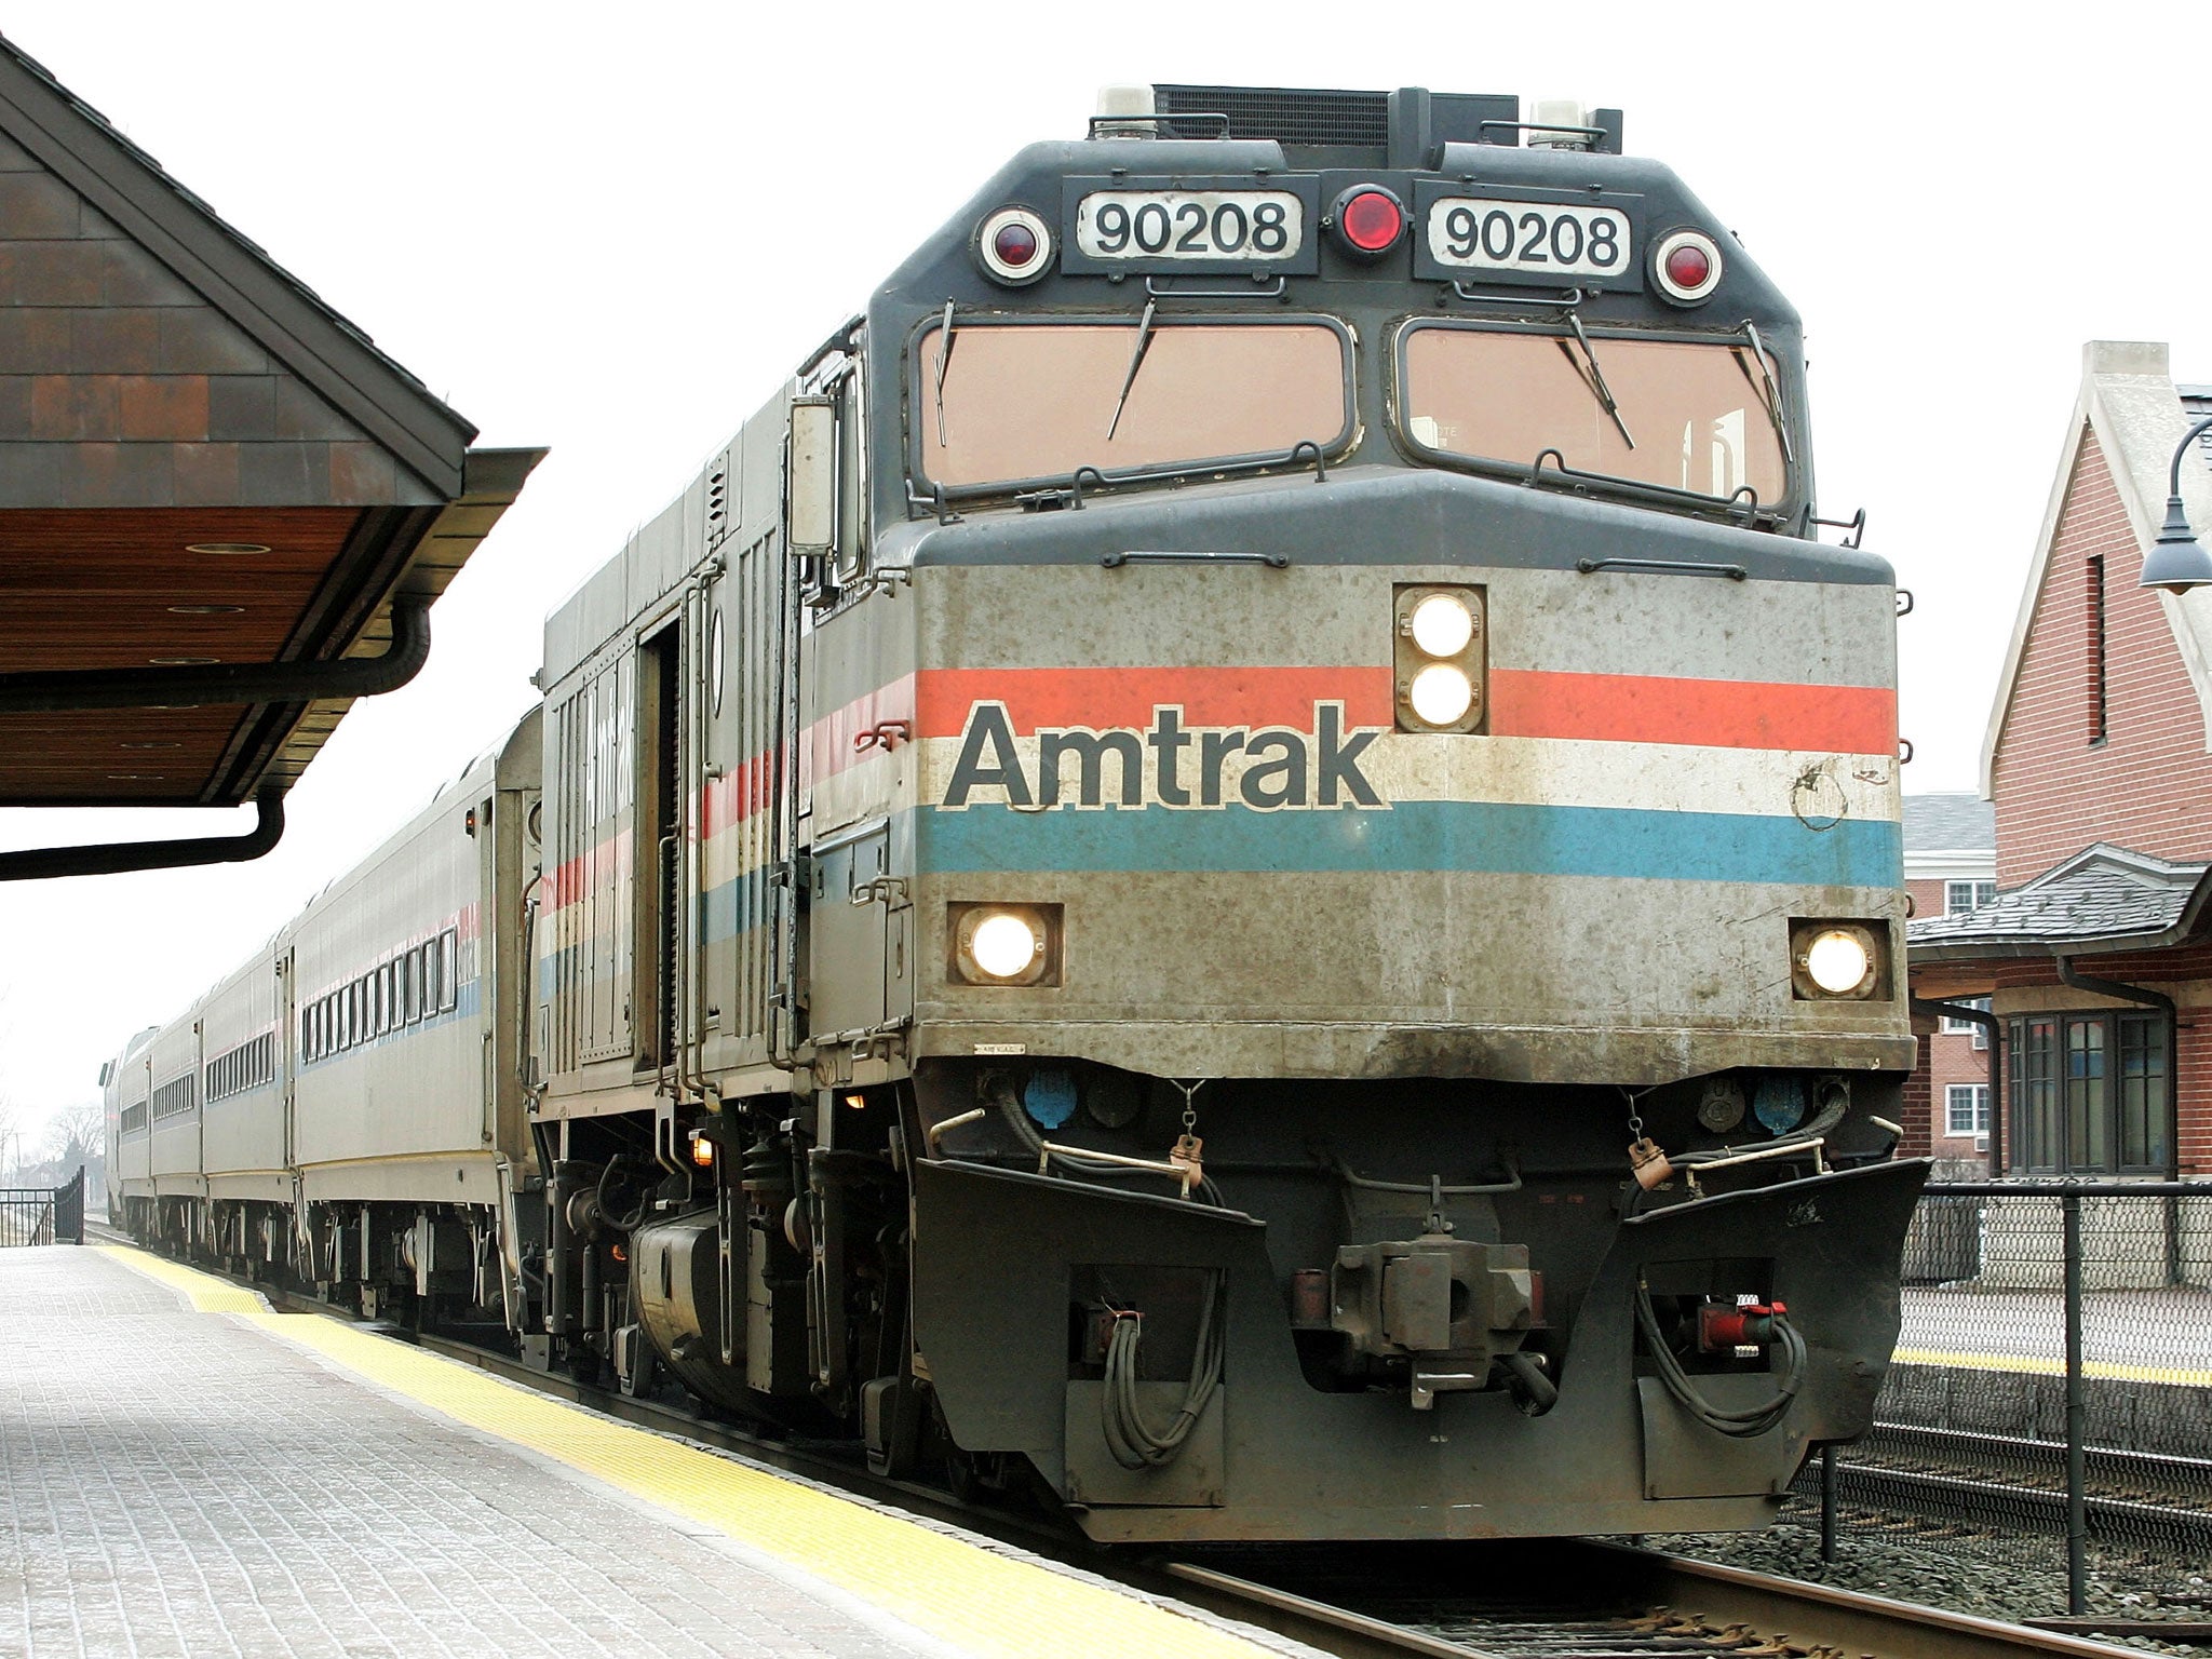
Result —
[[[184,1292],[206,1314],[263,1325],[394,1394],[712,1526],[971,1655],[1064,1659],[1079,1648],[1148,1659],[1276,1659],[1230,1630],[1104,1584],[995,1555],[334,1318],[274,1314],[254,1292],[128,1245],[100,1250]]]

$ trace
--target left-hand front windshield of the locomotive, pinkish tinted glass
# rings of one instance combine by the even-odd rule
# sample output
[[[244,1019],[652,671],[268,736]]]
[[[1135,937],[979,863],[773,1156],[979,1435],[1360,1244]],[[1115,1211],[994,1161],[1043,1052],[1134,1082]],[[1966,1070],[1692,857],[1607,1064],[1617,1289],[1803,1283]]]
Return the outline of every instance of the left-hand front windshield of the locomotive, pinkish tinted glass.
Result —
[[[1352,341],[1323,321],[967,323],[920,345],[922,476],[947,487],[1325,451],[1352,427]]]

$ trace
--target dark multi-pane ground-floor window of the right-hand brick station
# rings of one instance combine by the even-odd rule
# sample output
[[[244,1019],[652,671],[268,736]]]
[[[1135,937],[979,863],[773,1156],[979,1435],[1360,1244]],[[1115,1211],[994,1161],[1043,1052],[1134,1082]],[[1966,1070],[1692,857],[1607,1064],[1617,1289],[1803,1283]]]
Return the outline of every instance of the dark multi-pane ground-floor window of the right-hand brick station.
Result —
[[[2015,1166],[2051,1175],[2154,1175],[2172,1144],[2163,1013],[2013,1020]]]

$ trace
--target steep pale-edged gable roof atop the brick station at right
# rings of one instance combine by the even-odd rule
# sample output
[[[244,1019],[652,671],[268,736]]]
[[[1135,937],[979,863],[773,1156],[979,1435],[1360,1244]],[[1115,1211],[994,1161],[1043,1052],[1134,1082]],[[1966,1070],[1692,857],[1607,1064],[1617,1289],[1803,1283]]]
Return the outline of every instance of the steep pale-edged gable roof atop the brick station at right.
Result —
[[[2004,737],[2004,721],[2013,708],[2013,688],[2020,681],[2020,664],[2028,646],[2028,624],[2035,619],[2035,604],[2044,591],[2051,544],[2057,540],[2084,440],[2090,434],[2097,436],[2112,473],[2112,487],[2128,509],[2137,551],[2148,553],[2159,538],[2159,524],[2166,522],[2166,480],[2174,445],[2197,418],[2183,405],[2181,392],[2168,374],[2161,341],[2090,341],[2081,347],[2081,394],[2066,422],[2066,445],[2051,480],[2042,531],[2035,535],[2028,580],[2020,591],[2020,615],[2013,619],[2013,639],[2004,650],[2004,670],[1997,675],[1989,732],[1982,737],[1982,794],[1993,790],[1997,741]],[[2212,535],[2212,467],[2181,469],[2181,502],[2199,533]],[[2128,580],[2135,580],[2132,571]],[[2174,633],[2181,661],[2188,666],[2205,723],[2205,752],[2212,752],[2212,588],[2194,588],[2179,597],[2161,593],[2159,606],[2166,613],[2166,626]]]

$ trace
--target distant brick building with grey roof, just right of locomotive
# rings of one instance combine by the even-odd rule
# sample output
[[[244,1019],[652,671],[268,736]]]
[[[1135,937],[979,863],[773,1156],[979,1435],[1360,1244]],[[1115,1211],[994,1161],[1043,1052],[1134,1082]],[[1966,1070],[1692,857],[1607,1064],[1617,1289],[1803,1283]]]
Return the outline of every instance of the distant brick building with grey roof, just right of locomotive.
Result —
[[[1971,790],[1905,796],[1905,889],[1913,916],[1964,916],[1997,896],[1997,816]],[[1989,1150],[1989,1035],[1938,1020],[1922,1040],[1924,1097],[1913,1146],[1944,1159],[1949,1177],[1980,1177]],[[1924,1110],[1918,1102],[1924,1102]]]

